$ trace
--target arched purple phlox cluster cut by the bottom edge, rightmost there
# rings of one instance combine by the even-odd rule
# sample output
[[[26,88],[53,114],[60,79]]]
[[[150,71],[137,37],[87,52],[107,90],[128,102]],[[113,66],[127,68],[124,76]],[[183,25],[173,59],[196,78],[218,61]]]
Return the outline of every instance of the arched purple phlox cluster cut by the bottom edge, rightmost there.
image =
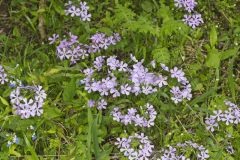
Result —
[[[169,146],[167,149],[163,149],[161,160],[190,160],[190,158],[186,157],[184,153],[179,153],[180,151],[178,151],[178,148],[181,148],[181,151],[186,152],[186,149],[189,147],[191,150],[196,151],[198,160],[206,160],[210,157],[208,150],[204,146],[192,141],[185,141],[184,143],[178,143],[175,147]]]

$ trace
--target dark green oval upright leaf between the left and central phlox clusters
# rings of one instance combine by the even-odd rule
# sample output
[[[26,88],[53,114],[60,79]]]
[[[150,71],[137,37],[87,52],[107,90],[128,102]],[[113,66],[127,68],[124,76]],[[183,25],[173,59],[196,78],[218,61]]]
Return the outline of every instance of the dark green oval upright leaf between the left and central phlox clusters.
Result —
[[[63,91],[63,100],[65,102],[71,102],[76,93],[76,79],[71,79],[71,81],[65,85]]]

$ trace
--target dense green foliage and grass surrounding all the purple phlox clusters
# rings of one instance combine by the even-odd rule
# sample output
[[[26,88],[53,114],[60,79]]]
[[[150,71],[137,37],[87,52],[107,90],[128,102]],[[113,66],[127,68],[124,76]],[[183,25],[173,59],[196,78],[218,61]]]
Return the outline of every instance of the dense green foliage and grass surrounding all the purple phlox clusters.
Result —
[[[24,84],[40,84],[47,99],[41,117],[21,119],[12,114],[11,87],[0,85],[0,159],[125,159],[114,146],[115,138],[144,132],[155,150],[192,140],[204,145],[210,159],[239,159],[240,126],[222,125],[217,132],[206,129],[205,118],[221,109],[223,100],[240,100],[240,1],[199,0],[197,11],[204,24],[192,29],[181,19],[184,12],[173,0],[87,2],[90,22],[65,16],[62,0],[0,0],[0,64]],[[3,16],[1,16],[1,14]],[[6,17],[6,18],[2,18]],[[2,20],[1,20],[2,18]],[[43,26],[39,25],[43,19]],[[4,23],[2,23],[4,22]],[[96,32],[118,32],[122,40],[96,55],[116,55],[182,68],[193,89],[193,99],[175,105],[164,91],[138,99],[112,102],[151,102],[158,112],[155,126],[123,126],[112,120],[110,110],[87,107],[88,93],[79,85],[88,59],[76,65],[56,58],[47,38],[72,32],[87,43]],[[94,59],[92,55],[89,58]],[[129,102],[130,101],[130,102]],[[29,129],[29,126],[35,129]],[[37,139],[31,140],[35,132]],[[19,144],[7,147],[7,134],[15,133]],[[231,135],[231,137],[229,136]],[[231,143],[235,152],[229,154]]]

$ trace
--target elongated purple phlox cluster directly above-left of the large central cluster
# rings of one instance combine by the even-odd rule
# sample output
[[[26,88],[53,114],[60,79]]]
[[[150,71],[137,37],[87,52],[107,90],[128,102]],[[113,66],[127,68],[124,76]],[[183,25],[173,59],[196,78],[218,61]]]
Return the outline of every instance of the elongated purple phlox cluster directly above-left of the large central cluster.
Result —
[[[49,37],[49,44],[53,44],[59,38],[59,35],[53,34]],[[78,36],[69,33],[68,39],[60,41],[56,49],[57,57],[60,60],[68,59],[72,64],[81,59],[85,59],[91,53],[100,52],[101,49],[107,49],[110,45],[115,45],[121,37],[118,33],[113,33],[112,36],[107,36],[104,33],[96,33],[90,37],[90,44],[82,44],[78,41]]]

